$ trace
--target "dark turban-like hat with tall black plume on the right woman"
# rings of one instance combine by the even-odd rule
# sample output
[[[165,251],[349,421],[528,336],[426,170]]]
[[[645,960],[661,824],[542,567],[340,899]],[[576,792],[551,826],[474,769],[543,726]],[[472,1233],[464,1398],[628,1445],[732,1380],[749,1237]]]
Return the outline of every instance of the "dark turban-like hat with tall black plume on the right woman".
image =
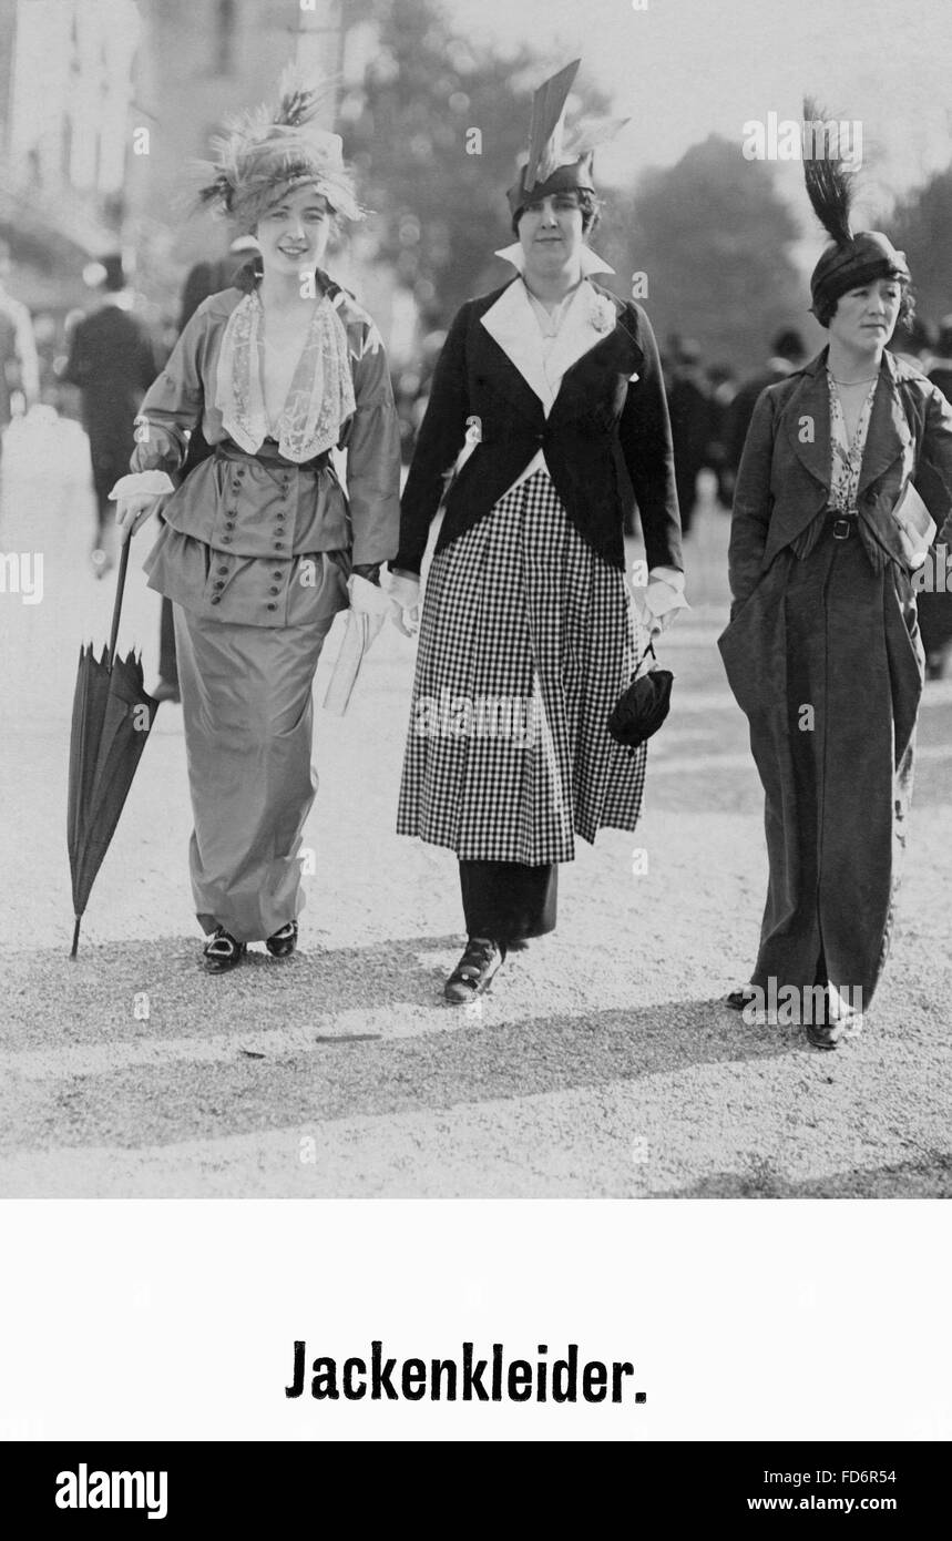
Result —
[[[823,112],[810,97],[804,99],[803,116],[806,123],[824,122]],[[826,148],[829,149],[829,145]],[[855,168],[847,166],[841,156],[804,154],[803,171],[813,213],[833,237],[833,243],[826,248],[810,277],[813,314],[829,310],[841,294],[873,279],[909,279],[906,253],[898,251],[889,236],[880,230],[852,230]]]

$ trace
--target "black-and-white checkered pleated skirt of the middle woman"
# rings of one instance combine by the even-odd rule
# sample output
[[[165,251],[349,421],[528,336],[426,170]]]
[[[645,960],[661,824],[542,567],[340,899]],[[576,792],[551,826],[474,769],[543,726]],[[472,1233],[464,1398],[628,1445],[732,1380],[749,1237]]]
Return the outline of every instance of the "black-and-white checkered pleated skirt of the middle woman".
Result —
[[[430,567],[397,831],[467,861],[572,861],[635,829],[645,746],[607,729],[647,633],[536,472]]]

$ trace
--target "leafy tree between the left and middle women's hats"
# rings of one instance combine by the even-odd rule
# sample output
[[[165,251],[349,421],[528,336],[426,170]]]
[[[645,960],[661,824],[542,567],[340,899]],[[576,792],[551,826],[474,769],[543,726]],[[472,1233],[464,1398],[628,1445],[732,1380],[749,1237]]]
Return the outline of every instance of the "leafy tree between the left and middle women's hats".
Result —
[[[377,0],[373,14],[376,57],[340,103],[348,157],[380,216],[380,257],[413,290],[425,324],[445,327],[465,299],[511,277],[493,262],[513,240],[505,190],[531,92],[564,60],[479,51],[433,0]],[[607,111],[587,85],[584,103],[585,116]]]

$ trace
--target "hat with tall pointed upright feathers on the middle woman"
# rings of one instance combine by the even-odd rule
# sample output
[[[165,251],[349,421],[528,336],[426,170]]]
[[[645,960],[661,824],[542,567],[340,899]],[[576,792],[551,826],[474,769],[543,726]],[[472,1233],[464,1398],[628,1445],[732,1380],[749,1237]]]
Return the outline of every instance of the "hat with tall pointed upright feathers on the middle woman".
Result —
[[[519,157],[519,177],[508,190],[508,206],[513,219],[538,199],[572,188],[595,193],[592,160],[596,145],[615,139],[627,117],[587,119],[565,134],[565,102],[572,82],[578,74],[581,59],[550,76],[538,88],[531,105],[528,128],[528,151]]]

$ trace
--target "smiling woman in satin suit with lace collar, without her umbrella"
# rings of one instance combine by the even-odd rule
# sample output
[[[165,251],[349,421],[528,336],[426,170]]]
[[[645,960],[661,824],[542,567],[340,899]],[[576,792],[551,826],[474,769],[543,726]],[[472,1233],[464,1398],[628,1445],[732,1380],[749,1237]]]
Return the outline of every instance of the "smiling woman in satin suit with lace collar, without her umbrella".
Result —
[[[285,88],[220,145],[206,190],[262,253],[240,287],[206,299],[142,408],[122,522],[154,509],[151,478],[185,461],[200,422],[214,455],[162,502],[146,561],[173,599],[194,811],[191,881],[223,972],[250,942],[294,951],[296,860],[317,786],[311,687],[334,615],[373,612],[396,550],[399,431],[370,316],[320,270],[330,220],[359,217],[340,140]],[[331,450],[347,448],[348,496]]]

